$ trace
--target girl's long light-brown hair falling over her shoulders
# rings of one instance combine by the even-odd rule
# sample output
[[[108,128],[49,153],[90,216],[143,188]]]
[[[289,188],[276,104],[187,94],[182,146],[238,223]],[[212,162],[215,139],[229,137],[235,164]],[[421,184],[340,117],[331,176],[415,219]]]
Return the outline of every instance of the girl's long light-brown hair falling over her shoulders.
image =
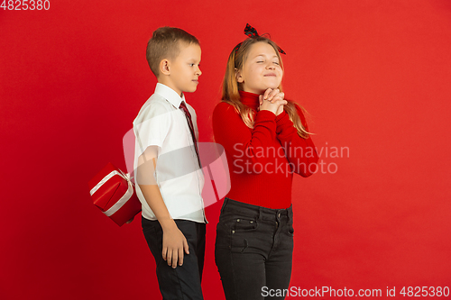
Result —
[[[243,119],[244,123],[249,128],[253,128],[254,113],[249,106],[244,105],[240,100],[239,91],[243,90],[243,85],[236,81],[235,72],[236,70],[243,69],[244,60],[247,59],[247,54],[251,49],[251,46],[259,41],[266,42],[272,46],[272,48],[277,53],[277,57],[279,58],[279,61],[281,63],[281,68],[283,69],[281,54],[279,53],[279,47],[276,45],[274,41],[271,41],[270,39],[264,36],[259,36],[256,38],[248,38],[241,43],[241,46],[239,46],[238,50],[236,50],[235,48],[230,53],[227,60],[226,75],[224,76],[223,80],[222,101],[228,103],[229,105],[233,105],[238,114],[241,115],[241,118]],[[282,91],[281,85],[278,86],[278,88]],[[308,134],[310,134],[310,132],[307,132],[307,130],[300,122],[299,114],[296,111],[296,105],[298,104],[290,100],[287,100],[287,102],[288,104],[283,107],[284,111],[289,115],[291,122],[293,123],[294,127],[298,130],[299,136],[304,139],[308,139]],[[300,105],[298,106],[302,112],[305,112],[305,109],[302,106]]]

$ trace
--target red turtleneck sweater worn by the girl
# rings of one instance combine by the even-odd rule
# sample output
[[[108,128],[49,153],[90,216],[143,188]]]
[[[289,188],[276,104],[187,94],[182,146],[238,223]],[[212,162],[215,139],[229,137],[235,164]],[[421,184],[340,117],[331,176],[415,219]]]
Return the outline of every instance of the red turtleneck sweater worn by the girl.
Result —
[[[308,177],[317,170],[318,153],[311,138],[299,137],[289,115],[258,111],[256,94],[240,91],[241,101],[256,113],[253,129],[235,107],[224,102],[213,112],[215,141],[226,150],[231,189],[227,197],[272,209],[291,205],[293,172]],[[304,127],[307,123],[299,106]]]

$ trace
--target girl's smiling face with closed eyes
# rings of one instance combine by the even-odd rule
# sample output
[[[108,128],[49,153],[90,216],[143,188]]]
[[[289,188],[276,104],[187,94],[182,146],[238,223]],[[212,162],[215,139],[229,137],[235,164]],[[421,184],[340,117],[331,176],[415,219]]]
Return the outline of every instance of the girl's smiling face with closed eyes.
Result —
[[[254,43],[244,60],[243,68],[236,71],[236,81],[243,85],[244,92],[263,94],[268,88],[281,85],[283,70],[276,50],[269,43]]]

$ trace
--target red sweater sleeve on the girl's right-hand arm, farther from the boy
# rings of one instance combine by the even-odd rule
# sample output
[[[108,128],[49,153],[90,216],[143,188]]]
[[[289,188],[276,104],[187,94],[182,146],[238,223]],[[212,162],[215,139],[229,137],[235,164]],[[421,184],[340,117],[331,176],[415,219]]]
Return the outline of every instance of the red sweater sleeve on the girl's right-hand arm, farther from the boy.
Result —
[[[308,131],[305,116],[298,105],[296,105],[296,111],[299,114],[300,122]],[[285,111],[277,116],[276,124],[277,139],[281,141],[285,156],[290,162],[291,170],[302,177],[309,177],[315,173],[318,168],[318,151],[311,137],[301,138]]]

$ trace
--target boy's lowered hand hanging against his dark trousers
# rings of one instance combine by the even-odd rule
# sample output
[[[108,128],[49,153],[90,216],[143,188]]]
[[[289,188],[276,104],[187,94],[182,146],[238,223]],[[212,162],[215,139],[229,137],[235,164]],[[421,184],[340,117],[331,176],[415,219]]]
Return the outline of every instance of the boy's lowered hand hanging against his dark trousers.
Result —
[[[168,262],[168,266],[172,268],[177,268],[177,263],[179,266],[183,265],[183,255],[184,251],[189,254],[188,241],[180,232],[177,224],[172,221],[170,225],[166,225],[163,228],[163,250],[162,257]]]

